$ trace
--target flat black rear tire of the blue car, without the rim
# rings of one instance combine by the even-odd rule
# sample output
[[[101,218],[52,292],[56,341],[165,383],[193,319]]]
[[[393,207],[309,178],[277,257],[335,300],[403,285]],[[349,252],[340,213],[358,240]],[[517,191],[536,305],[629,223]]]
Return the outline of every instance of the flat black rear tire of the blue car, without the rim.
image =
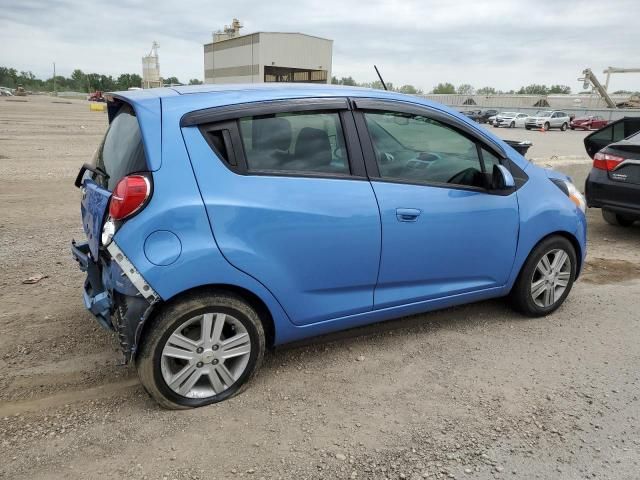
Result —
[[[223,392],[206,398],[188,398],[174,392],[161,371],[162,350],[171,334],[185,321],[203,313],[232,315],[249,334],[251,351],[240,377]],[[164,408],[178,410],[221,402],[240,393],[256,374],[265,352],[265,334],[256,311],[232,293],[193,293],[169,303],[152,319],[136,357],[138,376],[145,390]]]

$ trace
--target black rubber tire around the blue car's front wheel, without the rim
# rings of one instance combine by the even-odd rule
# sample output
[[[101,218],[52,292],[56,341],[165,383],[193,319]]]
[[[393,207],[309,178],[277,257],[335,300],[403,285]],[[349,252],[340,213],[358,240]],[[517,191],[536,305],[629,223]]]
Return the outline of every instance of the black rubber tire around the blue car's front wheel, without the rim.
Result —
[[[551,304],[548,307],[541,307],[534,302],[533,296],[531,294],[531,284],[533,282],[534,273],[536,272],[536,266],[538,262],[542,259],[544,255],[547,255],[549,252],[553,250],[564,250],[569,259],[571,261],[570,275],[568,284],[562,293],[562,295],[555,301],[555,303]],[[576,278],[576,266],[577,266],[577,257],[576,251],[573,245],[569,240],[565,237],[559,235],[553,235],[551,237],[545,238],[542,240],[536,247],[531,251],[527,261],[522,266],[520,270],[520,274],[518,275],[518,279],[511,289],[511,293],[509,294],[512,306],[529,317],[543,317],[545,315],[549,315],[557,310],[560,305],[564,302],[571,291],[571,287],[573,287],[573,282]]]

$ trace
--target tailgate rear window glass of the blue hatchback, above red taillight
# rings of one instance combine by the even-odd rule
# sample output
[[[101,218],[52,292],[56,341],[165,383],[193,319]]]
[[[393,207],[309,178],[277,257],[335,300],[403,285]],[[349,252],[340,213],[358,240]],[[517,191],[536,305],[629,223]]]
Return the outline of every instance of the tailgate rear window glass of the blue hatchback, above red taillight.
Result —
[[[108,175],[108,179],[94,175],[94,180],[108,190],[113,190],[123,177],[148,169],[140,126],[130,105],[123,104],[109,125],[94,165]]]

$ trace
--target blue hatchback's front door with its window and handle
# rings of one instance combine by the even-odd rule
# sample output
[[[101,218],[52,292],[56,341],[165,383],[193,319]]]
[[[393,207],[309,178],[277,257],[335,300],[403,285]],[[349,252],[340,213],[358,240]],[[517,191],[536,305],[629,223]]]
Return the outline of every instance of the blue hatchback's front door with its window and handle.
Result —
[[[519,215],[515,192],[487,189],[499,155],[427,109],[357,118],[382,220],[375,308],[504,286]]]

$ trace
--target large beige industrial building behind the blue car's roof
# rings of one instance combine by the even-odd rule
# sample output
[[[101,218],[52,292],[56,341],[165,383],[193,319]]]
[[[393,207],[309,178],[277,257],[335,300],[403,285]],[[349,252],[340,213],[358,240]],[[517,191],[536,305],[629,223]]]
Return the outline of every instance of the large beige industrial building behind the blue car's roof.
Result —
[[[205,83],[331,83],[333,40],[304,33],[240,35],[240,22],[204,45]]]

